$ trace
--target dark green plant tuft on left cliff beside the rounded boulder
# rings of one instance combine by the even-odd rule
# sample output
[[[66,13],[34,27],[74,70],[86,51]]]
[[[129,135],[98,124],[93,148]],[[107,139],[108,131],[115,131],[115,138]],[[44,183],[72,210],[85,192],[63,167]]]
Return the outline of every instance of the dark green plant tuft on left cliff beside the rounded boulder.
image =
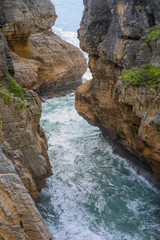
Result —
[[[23,89],[16,83],[10,75],[7,75],[7,85],[9,92],[13,93],[16,97],[21,100],[25,99],[25,93]]]

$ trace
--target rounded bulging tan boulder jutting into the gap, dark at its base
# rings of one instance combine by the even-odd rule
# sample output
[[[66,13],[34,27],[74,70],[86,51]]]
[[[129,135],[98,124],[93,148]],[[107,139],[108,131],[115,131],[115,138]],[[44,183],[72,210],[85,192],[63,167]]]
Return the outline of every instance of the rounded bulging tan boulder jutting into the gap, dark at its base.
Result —
[[[82,83],[86,60],[82,52],[52,32],[32,34],[29,38],[32,59],[38,60],[37,83],[40,95],[56,96],[76,89]]]

